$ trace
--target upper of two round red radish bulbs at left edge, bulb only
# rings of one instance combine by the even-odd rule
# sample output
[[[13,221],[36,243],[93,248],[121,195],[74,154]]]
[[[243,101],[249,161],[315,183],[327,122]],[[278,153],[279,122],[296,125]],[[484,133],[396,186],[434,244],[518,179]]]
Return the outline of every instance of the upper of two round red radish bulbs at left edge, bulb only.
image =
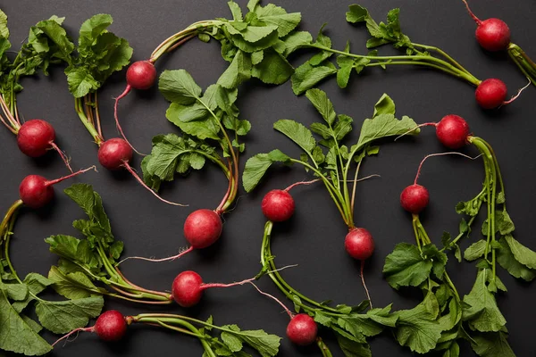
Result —
[[[53,148],[55,131],[45,120],[32,119],[21,125],[17,133],[17,145],[23,154],[39,157]]]

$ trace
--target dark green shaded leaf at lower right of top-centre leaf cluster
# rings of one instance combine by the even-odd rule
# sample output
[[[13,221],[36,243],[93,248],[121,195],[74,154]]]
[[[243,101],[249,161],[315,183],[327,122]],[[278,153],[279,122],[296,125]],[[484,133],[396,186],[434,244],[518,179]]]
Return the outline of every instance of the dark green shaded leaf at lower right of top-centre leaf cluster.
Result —
[[[263,61],[253,66],[251,75],[267,84],[283,84],[294,73],[285,57],[272,48],[264,50]]]

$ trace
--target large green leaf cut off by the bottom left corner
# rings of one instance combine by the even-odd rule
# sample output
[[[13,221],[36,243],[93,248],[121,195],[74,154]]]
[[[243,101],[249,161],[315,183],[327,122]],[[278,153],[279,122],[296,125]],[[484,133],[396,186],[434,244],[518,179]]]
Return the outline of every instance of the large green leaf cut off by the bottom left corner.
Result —
[[[38,356],[52,351],[52,347],[31,328],[0,291],[0,349],[27,356]]]

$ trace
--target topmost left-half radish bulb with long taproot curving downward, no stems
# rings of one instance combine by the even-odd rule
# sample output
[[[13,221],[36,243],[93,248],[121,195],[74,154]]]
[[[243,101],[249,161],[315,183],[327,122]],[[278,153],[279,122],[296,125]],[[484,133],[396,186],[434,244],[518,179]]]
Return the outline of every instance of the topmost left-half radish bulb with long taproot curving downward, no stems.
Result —
[[[127,137],[123,133],[121,129],[121,125],[119,124],[119,116],[117,115],[117,106],[119,104],[119,101],[124,98],[126,95],[130,93],[130,89],[148,89],[150,87],[153,87],[156,80],[156,69],[153,65],[153,62],[150,61],[138,61],[130,64],[129,69],[127,70],[127,87],[125,87],[125,90],[115,99],[115,105],[113,106],[113,116],[115,117],[115,126],[119,130],[121,137],[125,139],[126,143],[134,149],[132,145],[130,145],[129,140],[127,140]]]

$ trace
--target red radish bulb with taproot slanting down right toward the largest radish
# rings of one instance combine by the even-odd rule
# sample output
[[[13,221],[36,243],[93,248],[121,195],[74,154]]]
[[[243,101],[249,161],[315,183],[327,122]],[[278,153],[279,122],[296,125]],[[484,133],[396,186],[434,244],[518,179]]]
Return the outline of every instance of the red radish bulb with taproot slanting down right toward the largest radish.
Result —
[[[143,179],[140,179],[138,173],[130,166],[130,160],[132,160],[132,148],[126,140],[121,137],[113,137],[101,143],[98,148],[98,162],[108,170],[120,170],[124,168],[130,172],[130,174],[137,179],[139,184],[145,187],[151,194],[155,195],[163,203],[169,203],[176,206],[184,206],[184,204],[174,203],[168,200],[164,200],[160,195],[148,187]]]

